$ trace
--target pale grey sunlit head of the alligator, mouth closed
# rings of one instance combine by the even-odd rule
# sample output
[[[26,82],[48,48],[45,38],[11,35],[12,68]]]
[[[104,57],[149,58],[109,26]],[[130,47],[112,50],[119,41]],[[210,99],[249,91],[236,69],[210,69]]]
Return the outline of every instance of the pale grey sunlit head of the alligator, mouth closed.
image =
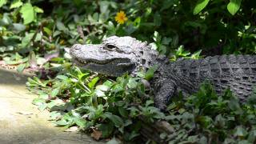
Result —
[[[150,50],[148,47],[146,42],[135,38],[112,36],[98,45],[75,44],[70,55],[75,64],[86,70],[117,77],[126,72],[133,73],[138,66],[150,61],[148,56],[143,56],[145,50]]]

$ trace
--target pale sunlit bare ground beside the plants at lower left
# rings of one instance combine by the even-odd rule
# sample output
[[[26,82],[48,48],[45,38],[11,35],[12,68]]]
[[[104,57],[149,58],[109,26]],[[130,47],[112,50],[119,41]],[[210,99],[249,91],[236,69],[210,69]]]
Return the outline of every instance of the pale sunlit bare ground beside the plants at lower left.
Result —
[[[99,143],[86,134],[63,132],[47,121],[49,112],[40,112],[31,104],[38,96],[26,90],[28,75],[0,68],[1,144]]]

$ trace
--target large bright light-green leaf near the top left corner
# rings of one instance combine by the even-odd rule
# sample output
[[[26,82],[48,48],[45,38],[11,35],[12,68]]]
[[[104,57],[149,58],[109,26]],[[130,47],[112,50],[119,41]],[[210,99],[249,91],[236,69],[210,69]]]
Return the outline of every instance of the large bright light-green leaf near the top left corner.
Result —
[[[34,21],[34,7],[30,3],[26,3],[25,5],[23,5],[20,13],[22,14],[24,25]]]

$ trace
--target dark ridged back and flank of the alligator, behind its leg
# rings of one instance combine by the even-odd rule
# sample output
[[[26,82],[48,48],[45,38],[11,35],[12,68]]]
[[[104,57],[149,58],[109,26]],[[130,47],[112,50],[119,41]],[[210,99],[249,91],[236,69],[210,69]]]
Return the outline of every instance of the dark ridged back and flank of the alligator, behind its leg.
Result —
[[[170,64],[174,74],[188,79],[192,85],[209,79],[218,93],[230,87],[239,98],[250,95],[256,84],[256,56],[221,55],[200,60],[180,59]],[[179,83],[181,89],[187,82]]]

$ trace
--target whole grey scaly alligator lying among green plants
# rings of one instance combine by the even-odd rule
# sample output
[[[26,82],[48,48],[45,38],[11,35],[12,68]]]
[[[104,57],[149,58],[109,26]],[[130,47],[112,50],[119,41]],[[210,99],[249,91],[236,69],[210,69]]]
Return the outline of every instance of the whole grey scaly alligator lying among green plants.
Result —
[[[147,42],[129,36],[111,36],[97,45],[75,44],[70,48],[70,55],[78,66],[114,77],[157,66],[150,86],[154,90],[154,104],[161,110],[166,110],[170,98],[180,92],[193,94],[206,80],[212,83],[217,94],[230,88],[242,102],[252,94],[256,83],[254,55],[225,54],[171,62],[152,50]]]

